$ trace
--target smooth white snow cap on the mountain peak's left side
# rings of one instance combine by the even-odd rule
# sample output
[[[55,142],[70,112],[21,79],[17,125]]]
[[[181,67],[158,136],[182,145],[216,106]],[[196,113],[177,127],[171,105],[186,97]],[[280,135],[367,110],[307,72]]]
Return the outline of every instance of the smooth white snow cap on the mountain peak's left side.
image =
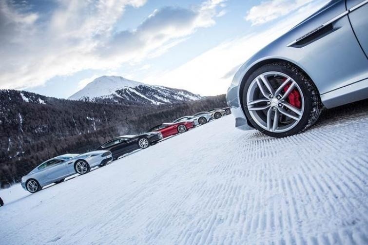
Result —
[[[116,90],[123,88],[134,88],[144,83],[125,79],[121,76],[101,76],[87,84],[82,90],[69,97],[78,100],[85,97],[90,99],[115,94]]]

